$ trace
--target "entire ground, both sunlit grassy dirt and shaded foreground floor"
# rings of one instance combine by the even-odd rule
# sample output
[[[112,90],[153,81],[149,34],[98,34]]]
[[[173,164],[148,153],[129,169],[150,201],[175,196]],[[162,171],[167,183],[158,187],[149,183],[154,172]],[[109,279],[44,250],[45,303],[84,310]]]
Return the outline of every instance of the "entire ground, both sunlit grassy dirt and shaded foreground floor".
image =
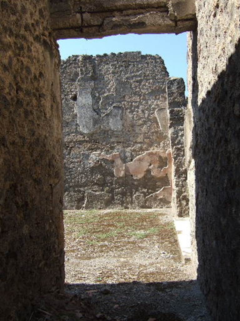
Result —
[[[171,209],[65,211],[64,226],[65,296],[32,321],[211,321]]]

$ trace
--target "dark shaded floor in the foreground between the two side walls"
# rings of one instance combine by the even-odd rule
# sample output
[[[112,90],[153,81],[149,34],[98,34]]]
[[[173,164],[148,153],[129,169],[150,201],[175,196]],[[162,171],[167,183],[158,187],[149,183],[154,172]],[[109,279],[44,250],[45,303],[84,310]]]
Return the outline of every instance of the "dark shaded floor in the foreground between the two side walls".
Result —
[[[65,291],[65,295],[49,295],[42,300],[41,306],[35,306],[32,321],[40,321],[43,316],[51,321],[211,320],[195,280],[66,284]]]

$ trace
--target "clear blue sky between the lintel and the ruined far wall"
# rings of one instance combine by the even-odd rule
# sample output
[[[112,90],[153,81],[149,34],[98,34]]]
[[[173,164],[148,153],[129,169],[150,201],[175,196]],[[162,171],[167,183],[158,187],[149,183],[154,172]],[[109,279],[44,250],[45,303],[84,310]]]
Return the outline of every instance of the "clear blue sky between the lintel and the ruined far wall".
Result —
[[[102,39],[58,40],[61,59],[72,55],[102,55],[111,52],[141,51],[142,54],[158,54],[164,59],[170,77],[187,80],[187,33],[118,35]]]

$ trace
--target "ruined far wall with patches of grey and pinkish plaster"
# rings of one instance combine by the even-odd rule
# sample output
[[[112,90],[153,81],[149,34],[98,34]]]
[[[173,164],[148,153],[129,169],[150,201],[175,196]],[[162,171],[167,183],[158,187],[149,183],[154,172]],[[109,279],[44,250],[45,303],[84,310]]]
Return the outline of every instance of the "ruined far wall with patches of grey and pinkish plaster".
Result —
[[[162,58],[72,56],[61,79],[65,208],[171,206]]]

